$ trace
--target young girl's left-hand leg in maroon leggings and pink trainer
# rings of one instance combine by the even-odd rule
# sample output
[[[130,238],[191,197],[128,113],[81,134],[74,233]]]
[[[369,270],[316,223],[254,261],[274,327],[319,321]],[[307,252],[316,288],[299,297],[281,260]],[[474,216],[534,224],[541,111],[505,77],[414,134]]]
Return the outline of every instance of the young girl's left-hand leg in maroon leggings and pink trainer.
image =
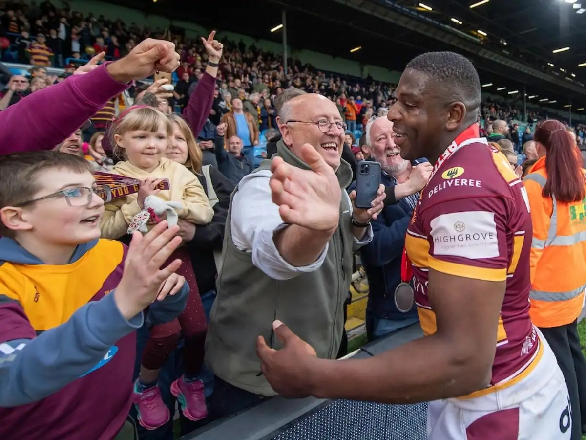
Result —
[[[169,420],[169,408],[156,386],[159,370],[179,342],[181,327],[178,320],[151,327],[151,336],[142,352],[141,371],[134,384],[133,401],[139,423],[147,429],[161,427]]]

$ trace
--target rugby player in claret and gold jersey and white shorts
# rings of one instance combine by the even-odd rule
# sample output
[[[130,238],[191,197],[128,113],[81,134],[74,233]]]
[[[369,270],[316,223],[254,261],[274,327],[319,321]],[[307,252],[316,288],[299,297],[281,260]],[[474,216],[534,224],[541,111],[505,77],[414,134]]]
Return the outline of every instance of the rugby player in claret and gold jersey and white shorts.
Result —
[[[283,348],[257,340],[265,377],[286,397],[430,401],[431,440],[570,439],[564,377],[529,317],[527,194],[502,153],[479,137],[476,70],[456,53],[424,53],[407,65],[396,94],[388,117],[401,156],[435,164],[406,238],[425,337],[371,358],[323,360],[275,321]]]

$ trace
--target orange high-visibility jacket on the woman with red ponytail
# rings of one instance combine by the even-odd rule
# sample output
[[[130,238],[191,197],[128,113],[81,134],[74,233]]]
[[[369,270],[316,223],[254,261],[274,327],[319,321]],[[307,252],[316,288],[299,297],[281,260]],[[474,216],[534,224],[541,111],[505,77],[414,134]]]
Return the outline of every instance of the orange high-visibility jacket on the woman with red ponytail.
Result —
[[[543,197],[545,157],[523,179],[533,222],[530,316],[537,327],[570,324],[584,306],[586,289],[586,198],[559,202]]]

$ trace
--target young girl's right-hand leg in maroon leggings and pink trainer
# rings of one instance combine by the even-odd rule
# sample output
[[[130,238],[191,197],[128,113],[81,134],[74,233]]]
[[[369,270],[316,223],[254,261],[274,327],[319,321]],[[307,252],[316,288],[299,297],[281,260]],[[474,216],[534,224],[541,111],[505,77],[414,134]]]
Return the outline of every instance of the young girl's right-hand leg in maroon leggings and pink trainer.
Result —
[[[185,417],[196,421],[207,417],[204,386],[199,378],[199,371],[203,365],[207,321],[189,253],[186,249],[178,249],[175,252],[180,254],[175,258],[183,260],[177,273],[185,277],[189,283],[190,292],[185,310],[178,317],[185,339],[183,347],[185,374],[171,385],[171,392],[178,398]]]

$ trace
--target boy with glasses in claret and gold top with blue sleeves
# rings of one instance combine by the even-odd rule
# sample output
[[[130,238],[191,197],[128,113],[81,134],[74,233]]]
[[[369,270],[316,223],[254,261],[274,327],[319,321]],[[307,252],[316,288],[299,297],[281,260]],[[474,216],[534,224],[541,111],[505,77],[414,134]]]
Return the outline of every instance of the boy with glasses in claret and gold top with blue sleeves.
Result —
[[[100,239],[104,202],[73,154],[2,157],[0,185],[0,438],[134,438],[134,331],[189,292],[180,260],[160,270],[179,228]]]

